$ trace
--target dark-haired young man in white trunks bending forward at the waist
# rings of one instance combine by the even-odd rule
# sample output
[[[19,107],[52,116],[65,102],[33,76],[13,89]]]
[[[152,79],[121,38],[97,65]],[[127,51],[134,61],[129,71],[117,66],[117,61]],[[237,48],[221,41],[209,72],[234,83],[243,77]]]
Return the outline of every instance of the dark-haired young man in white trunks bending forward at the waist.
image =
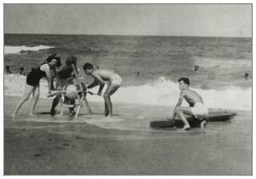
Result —
[[[90,63],[84,64],[84,72],[86,75],[91,76],[95,81],[90,84],[87,88],[91,89],[96,85],[100,85],[97,95],[102,95],[102,89],[104,88],[105,81],[108,81],[108,89],[105,91],[103,98],[105,101],[105,116],[113,116],[112,102],[110,100],[110,95],[119,89],[122,84],[122,78],[112,71],[103,69],[94,69]]]

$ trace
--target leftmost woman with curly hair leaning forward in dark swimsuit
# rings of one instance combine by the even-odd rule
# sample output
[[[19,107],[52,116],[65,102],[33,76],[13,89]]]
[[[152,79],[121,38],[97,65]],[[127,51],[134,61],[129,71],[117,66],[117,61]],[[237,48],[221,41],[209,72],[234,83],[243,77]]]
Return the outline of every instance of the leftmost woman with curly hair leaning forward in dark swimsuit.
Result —
[[[51,70],[55,66],[61,66],[61,58],[58,55],[49,55],[46,62],[37,68],[32,68],[32,71],[29,72],[26,76],[26,89],[20,99],[19,104],[15,107],[15,112],[12,117],[15,118],[20,107],[32,94],[32,107],[29,115],[34,115],[34,109],[38,102],[39,98],[39,81],[41,78],[47,78],[48,81],[48,93],[50,94],[53,86],[51,83]]]

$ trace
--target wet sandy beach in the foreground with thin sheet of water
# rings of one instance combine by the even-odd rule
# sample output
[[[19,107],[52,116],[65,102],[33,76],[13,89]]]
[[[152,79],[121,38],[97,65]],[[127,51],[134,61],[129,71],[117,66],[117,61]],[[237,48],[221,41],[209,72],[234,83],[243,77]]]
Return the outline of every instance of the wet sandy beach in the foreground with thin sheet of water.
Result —
[[[150,130],[171,107],[114,104],[104,122],[103,104],[90,102],[78,121],[51,118],[49,100],[27,117],[30,102],[12,120],[19,98],[4,97],[4,175],[252,175],[252,115],[206,130]],[[38,122],[42,120],[41,122]],[[66,122],[65,122],[66,121]]]

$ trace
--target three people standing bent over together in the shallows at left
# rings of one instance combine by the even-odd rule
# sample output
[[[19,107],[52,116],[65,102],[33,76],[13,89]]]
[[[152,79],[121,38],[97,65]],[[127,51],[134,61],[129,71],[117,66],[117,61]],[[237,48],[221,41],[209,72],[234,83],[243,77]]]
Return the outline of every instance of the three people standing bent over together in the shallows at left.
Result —
[[[88,86],[85,86],[86,89],[91,89],[100,85],[97,95],[102,95],[102,90],[105,86],[105,82],[108,81],[108,88],[105,91],[103,98],[105,101],[105,116],[113,116],[112,102],[110,100],[110,95],[119,89],[122,83],[122,78],[115,72],[110,70],[104,70],[100,68],[94,68],[90,63],[85,63],[84,72],[88,76],[94,78],[94,82]],[[34,115],[34,109],[38,102],[39,98],[39,82],[41,78],[46,78],[48,82],[48,94],[54,92],[54,90],[64,90],[64,87],[68,84],[73,84],[76,81],[76,75],[78,74],[77,68],[77,58],[73,55],[68,56],[66,63],[61,64],[61,57],[59,55],[49,55],[46,61],[38,67],[32,68],[32,71],[26,76],[26,89],[22,95],[20,102],[15,107],[15,112],[13,117],[15,118],[16,114],[20,110],[20,107],[32,94],[32,107],[29,115]],[[57,83],[54,86],[53,79],[57,78]],[[58,105],[60,98],[55,97],[50,113],[55,115],[55,107]],[[74,102],[75,99],[72,99],[71,102]],[[70,113],[74,114],[73,107],[69,108]]]

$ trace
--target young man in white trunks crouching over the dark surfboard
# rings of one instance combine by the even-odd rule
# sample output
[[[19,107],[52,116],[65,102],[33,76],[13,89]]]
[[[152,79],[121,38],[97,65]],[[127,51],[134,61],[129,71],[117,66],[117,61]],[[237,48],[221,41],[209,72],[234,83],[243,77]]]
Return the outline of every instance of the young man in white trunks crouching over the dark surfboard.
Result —
[[[184,114],[201,118],[208,114],[208,109],[202,101],[201,95],[198,95],[194,90],[189,89],[189,78],[179,78],[177,81],[178,88],[181,90],[181,93],[178,98],[177,105],[173,110],[172,119],[174,120],[177,114],[177,116],[183,120],[183,130],[189,130],[190,125]],[[181,107],[183,99],[189,103],[189,107]],[[206,123],[207,122],[205,120],[201,121],[201,129],[205,127]]]

